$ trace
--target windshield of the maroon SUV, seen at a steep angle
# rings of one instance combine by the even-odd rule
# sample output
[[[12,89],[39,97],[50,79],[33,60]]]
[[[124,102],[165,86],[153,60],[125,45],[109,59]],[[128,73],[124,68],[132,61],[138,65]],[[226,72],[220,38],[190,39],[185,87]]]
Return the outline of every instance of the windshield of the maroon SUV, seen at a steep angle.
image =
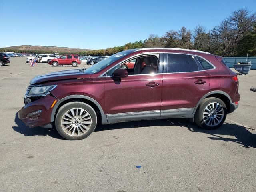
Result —
[[[112,64],[113,62],[117,61],[120,58],[123,58],[124,56],[126,56],[128,54],[130,54],[130,52],[122,51],[122,52],[116,53],[116,54],[96,63],[95,65],[84,70],[83,72],[86,74],[97,73],[100,70],[102,70],[102,69],[106,68],[107,66],[109,66],[110,64]]]

